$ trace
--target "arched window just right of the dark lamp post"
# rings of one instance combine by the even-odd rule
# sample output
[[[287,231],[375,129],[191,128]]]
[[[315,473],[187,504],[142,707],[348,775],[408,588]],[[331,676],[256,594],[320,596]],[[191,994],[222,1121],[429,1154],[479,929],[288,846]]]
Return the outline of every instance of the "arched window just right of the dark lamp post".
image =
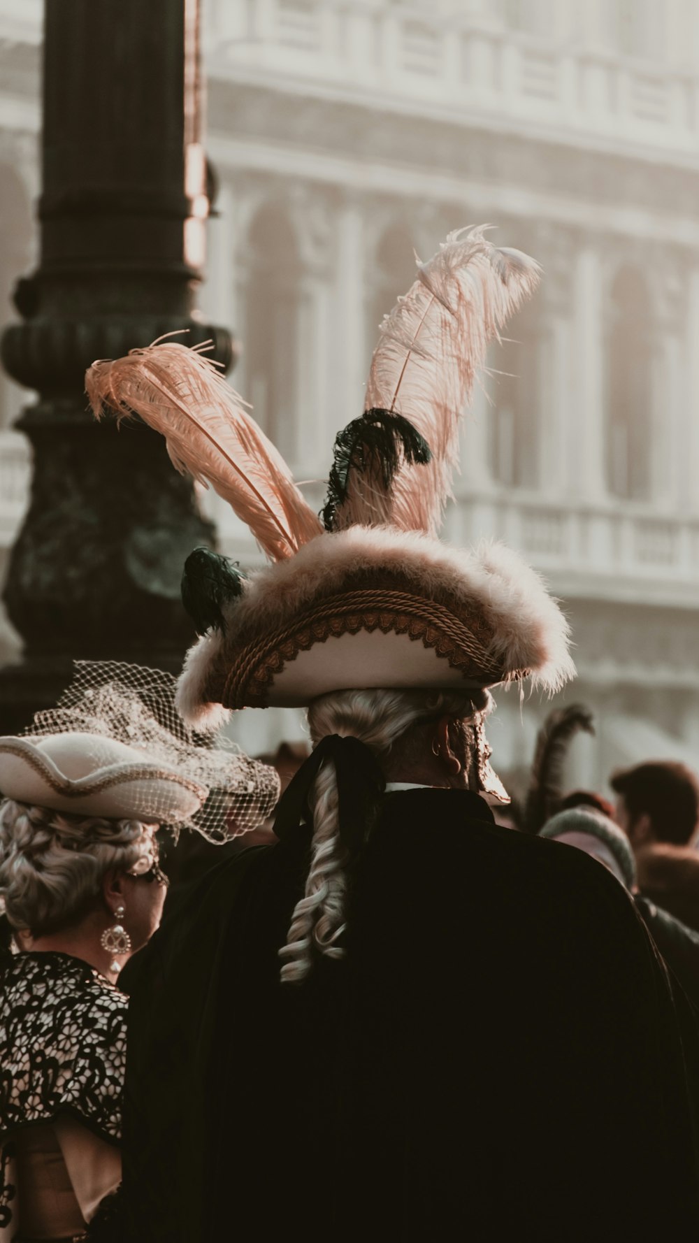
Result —
[[[292,451],[299,413],[300,276],[291,221],[280,205],[269,204],[250,229],[245,395],[282,454]]]

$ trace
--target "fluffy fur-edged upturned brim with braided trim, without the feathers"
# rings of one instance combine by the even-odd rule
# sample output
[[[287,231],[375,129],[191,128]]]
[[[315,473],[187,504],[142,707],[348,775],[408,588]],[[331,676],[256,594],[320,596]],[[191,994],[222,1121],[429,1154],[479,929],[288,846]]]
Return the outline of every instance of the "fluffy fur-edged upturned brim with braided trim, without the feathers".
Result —
[[[199,725],[226,709],[308,704],[350,687],[494,686],[575,672],[541,579],[499,544],[450,548],[388,527],[318,536],[252,576],[225,635],[188,655],[178,689]]]

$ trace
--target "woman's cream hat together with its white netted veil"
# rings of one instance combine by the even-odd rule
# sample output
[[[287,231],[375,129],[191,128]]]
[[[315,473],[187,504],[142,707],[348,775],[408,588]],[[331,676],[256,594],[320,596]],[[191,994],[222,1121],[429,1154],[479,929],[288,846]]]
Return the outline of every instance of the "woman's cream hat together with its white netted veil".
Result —
[[[187,726],[175,690],[160,670],[76,661],[56,707],[37,712],[17,738],[0,740],[0,791],[26,800],[22,781],[27,791],[44,781],[53,791],[47,805],[106,815],[95,800],[111,791],[113,815],[128,814],[131,798],[138,818],[213,843],[256,828],[279,797],[275,769]]]

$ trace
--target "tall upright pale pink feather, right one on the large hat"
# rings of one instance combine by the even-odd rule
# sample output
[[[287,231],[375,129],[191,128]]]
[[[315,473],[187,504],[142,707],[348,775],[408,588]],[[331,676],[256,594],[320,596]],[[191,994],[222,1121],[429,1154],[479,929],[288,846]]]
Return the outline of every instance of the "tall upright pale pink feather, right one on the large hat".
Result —
[[[459,420],[485,364],[489,342],[539,285],[539,264],[519,250],[499,250],[486,225],[449,234],[381,326],[364,409],[402,414],[427,440],[429,465],[403,462],[378,521],[437,534],[451,496]],[[376,497],[348,491],[335,528],[377,521]]]

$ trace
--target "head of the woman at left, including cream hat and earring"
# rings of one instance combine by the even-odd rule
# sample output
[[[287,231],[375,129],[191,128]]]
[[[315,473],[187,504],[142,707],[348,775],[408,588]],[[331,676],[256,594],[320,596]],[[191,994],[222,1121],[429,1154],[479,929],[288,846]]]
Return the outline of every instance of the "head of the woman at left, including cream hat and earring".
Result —
[[[68,955],[114,982],[155,932],[158,829],[187,824],[208,796],[155,715],[173,695],[157,670],[80,661],[55,707],[0,738],[4,950]]]

